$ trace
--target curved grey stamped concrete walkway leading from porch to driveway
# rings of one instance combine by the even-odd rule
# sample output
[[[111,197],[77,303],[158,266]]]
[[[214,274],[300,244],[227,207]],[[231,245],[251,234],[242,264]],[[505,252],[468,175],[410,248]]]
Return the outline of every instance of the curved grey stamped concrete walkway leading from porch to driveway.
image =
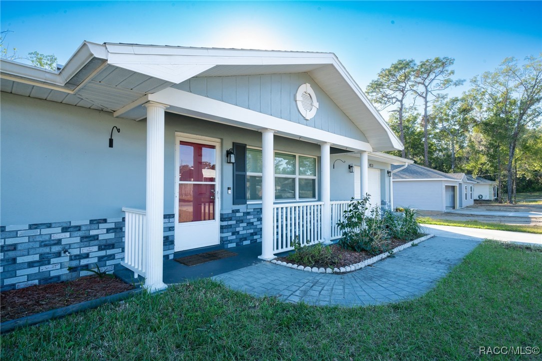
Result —
[[[433,237],[395,257],[346,274],[312,273],[263,262],[213,277],[254,296],[311,305],[366,306],[421,296],[480,240]]]

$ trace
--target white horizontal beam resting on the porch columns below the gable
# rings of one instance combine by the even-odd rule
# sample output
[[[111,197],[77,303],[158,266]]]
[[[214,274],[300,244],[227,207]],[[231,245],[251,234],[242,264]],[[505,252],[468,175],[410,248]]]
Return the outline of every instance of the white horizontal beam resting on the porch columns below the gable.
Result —
[[[167,88],[149,94],[148,97],[150,101],[169,105],[170,107],[166,109],[167,112],[190,115],[254,130],[272,129],[280,136],[314,141],[315,143],[325,141],[352,150],[372,151],[371,145],[365,141],[339,136],[338,134],[174,88]]]

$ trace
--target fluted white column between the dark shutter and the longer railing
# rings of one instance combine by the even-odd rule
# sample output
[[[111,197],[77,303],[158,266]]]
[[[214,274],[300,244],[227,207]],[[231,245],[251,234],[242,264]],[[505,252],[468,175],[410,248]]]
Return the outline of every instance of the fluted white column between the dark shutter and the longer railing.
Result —
[[[273,150],[273,133],[270,129],[262,129],[262,255],[258,258],[270,261],[273,254],[273,202],[275,184],[275,156]]]

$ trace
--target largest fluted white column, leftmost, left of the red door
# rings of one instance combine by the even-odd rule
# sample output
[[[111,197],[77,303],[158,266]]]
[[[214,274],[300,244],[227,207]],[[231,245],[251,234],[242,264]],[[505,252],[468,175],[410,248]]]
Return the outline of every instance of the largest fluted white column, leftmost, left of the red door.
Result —
[[[147,102],[147,227],[145,288],[150,292],[167,286],[162,280],[164,255],[164,109]]]

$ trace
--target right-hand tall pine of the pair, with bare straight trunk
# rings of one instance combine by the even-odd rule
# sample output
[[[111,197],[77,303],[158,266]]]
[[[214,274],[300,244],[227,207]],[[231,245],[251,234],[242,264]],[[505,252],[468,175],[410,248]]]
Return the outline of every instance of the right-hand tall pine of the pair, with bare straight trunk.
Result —
[[[450,67],[454,65],[455,60],[451,57],[435,57],[422,61],[414,73],[413,82],[416,87],[413,88],[416,98],[423,101],[423,159],[424,165],[429,166],[429,144],[428,144],[428,123],[429,104],[442,97],[439,92],[445,89],[458,86],[463,80],[452,80],[451,76],[455,74]]]

